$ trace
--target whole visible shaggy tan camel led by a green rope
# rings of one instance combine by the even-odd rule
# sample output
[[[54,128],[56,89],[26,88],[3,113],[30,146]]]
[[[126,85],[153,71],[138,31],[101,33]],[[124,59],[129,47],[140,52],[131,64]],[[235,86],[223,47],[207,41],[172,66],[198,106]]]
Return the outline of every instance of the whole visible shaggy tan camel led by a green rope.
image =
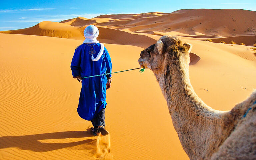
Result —
[[[255,160],[256,91],[231,111],[207,106],[189,80],[191,48],[166,35],[141,51],[138,60],[154,72],[183,149],[191,160]]]

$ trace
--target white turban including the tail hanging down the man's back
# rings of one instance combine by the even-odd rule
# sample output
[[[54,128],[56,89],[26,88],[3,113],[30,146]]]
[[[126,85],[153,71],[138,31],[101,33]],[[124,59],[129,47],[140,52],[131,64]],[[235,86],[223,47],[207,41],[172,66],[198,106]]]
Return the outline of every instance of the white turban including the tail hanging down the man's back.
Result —
[[[83,43],[100,43],[98,40],[97,40],[97,37],[99,36],[99,29],[97,27],[95,27],[94,25],[89,25],[85,28],[84,30],[84,37],[85,37],[85,40]],[[92,61],[98,61],[100,59],[100,57],[102,56],[103,54],[103,51],[104,51],[104,44],[100,43],[100,51],[97,55],[96,58],[93,57],[92,55]]]

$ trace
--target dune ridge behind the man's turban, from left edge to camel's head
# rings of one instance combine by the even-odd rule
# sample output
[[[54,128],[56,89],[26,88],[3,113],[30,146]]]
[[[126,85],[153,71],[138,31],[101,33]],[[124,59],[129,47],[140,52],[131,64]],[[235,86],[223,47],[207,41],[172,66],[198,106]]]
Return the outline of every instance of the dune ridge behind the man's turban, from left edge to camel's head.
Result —
[[[74,27],[64,23],[44,21],[30,28],[13,31],[1,31],[0,33],[39,35],[84,40],[83,31],[85,27],[86,26]],[[130,32],[105,27],[98,28],[101,33],[98,38],[103,43],[130,44],[146,47],[148,44],[153,44],[156,42],[154,39],[145,35],[133,34]]]

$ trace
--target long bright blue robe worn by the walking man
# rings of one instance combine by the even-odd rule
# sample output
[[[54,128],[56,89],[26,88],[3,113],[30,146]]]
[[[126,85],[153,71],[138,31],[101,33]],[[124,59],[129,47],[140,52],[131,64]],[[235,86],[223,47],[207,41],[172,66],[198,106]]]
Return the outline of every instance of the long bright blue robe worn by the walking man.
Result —
[[[108,51],[104,48],[103,55],[98,61],[92,61],[89,52],[96,51],[93,57],[96,58],[100,51],[100,44],[81,44],[75,49],[75,53],[71,62],[71,70],[73,78],[81,76],[88,77],[99,74],[111,73],[112,63]],[[106,108],[106,85],[107,78],[111,78],[111,74],[84,78],[82,80],[82,88],[80,92],[79,104],[77,112],[79,116],[85,120],[92,120],[103,108]]]

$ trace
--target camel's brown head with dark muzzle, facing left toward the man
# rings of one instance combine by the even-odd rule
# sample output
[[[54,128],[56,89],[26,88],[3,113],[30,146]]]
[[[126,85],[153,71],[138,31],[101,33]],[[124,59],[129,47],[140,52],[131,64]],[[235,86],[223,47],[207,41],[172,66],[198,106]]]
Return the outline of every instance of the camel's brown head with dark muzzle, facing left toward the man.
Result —
[[[165,35],[156,44],[141,51],[138,62],[141,67],[149,68],[158,74],[164,70],[166,63],[177,64],[181,57],[185,58],[185,63],[189,63],[191,48],[191,44],[182,44],[179,37]]]

